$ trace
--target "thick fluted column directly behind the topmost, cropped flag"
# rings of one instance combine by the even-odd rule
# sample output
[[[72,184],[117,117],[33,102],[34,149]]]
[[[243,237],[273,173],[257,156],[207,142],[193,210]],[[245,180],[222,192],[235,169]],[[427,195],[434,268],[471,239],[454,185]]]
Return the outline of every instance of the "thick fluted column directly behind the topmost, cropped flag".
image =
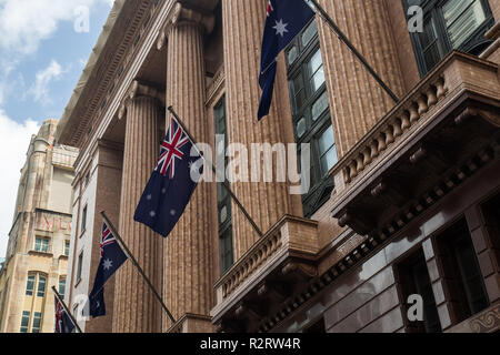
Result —
[[[286,128],[291,126],[283,57],[278,62],[274,98],[269,116],[257,122],[261,90],[258,78],[260,49],[267,1],[223,0],[223,43],[229,143],[286,143]],[[251,169],[249,156],[248,169]],[[276,169],[276,164],[273,164]],[[276,172],[273,172],[276,178]],[[274,179],[276,181],[276,179]],[[291,199],[286,183],[232,183],[232,189],[260,229],[266,232],[284,214],[291,213]],[[232,207],[234,260],[243,255],[258,240],[239,209]]]

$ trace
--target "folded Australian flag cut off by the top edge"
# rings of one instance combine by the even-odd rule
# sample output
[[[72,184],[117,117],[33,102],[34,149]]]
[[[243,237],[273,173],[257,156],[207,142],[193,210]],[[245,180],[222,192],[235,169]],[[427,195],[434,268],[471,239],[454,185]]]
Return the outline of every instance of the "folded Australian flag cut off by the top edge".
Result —
[[[262,40],[259,84],[262,89],[258,118],[269,114],[278,54],[314,17],[304,0],[269,0]]]

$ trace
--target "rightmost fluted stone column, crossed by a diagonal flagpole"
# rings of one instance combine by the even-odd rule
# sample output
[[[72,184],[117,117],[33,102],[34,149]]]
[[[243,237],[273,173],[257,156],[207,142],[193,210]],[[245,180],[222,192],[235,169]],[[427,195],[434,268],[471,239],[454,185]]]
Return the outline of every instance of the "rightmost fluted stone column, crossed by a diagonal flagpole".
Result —
[[[401,97],[401,69],[384,2],[319,0],[376,72]],[[344,155],[394,102],[323,20],[319,38],[339,156]]]

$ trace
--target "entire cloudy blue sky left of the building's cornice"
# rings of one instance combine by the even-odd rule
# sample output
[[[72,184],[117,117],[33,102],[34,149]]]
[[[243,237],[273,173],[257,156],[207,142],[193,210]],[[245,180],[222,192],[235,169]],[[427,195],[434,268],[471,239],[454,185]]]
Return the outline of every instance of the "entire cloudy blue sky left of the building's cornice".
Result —
[[[0,0],[0,257],[30,136],[60,119],[112,2]]]

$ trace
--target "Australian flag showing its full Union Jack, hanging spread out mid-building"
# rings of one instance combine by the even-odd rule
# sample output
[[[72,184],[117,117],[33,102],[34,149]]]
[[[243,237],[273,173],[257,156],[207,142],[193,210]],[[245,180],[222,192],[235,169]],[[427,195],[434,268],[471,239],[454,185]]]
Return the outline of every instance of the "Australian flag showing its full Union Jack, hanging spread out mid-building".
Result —
[[[160,158],[133,219],[167,237],[191,200],[203,169],[203,159],[172,118],[161,143]]]

